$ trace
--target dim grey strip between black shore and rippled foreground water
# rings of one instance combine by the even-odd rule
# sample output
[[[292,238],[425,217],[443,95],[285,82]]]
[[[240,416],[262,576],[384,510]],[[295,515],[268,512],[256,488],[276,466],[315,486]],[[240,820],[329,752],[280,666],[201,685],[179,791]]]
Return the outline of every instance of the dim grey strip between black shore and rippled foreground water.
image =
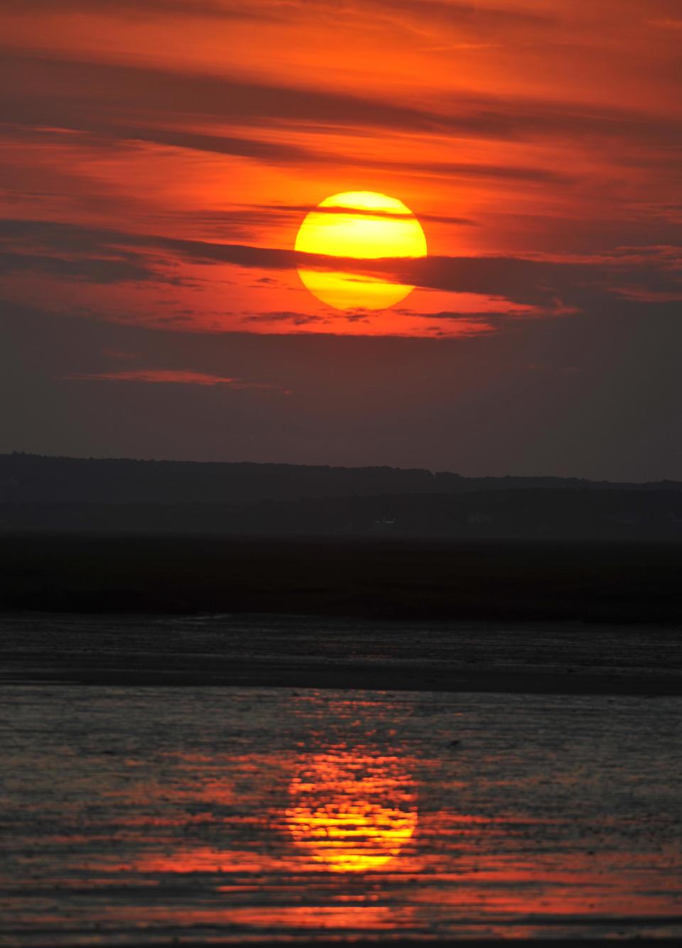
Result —
[[[682,693],[682,631],[661,626],[28,614],[0,617],[0,661],[101,684]]]

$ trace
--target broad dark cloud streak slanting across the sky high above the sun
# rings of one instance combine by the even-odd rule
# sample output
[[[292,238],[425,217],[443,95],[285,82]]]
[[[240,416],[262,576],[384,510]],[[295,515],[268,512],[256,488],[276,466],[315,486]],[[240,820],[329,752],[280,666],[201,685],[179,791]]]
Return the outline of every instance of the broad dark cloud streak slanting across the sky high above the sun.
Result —
[[[230,76],[17,55],[7,48],[2,53],[0,102],[5,120],[16,124],[70,127],[76,122],[76,127],[97,130],[105,117],[115,128],[126,111],[146,112],[157,121],[164,115],[184,120],[196,114],[200,102],[202,117],[245,126],[305,121],[510,141],[570,136],[682,145],[679,117],[654,109],[645,113],[622,105],[473,93],[459,94],[456,108],[450,98],[434,109]]]

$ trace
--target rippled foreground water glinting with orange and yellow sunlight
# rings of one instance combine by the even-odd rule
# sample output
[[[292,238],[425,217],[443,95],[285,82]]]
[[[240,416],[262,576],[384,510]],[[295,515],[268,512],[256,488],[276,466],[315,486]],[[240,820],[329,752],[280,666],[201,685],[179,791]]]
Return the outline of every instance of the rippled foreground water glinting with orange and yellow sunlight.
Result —
[[[680,935],[682,701],[3,690],[4,938]]]

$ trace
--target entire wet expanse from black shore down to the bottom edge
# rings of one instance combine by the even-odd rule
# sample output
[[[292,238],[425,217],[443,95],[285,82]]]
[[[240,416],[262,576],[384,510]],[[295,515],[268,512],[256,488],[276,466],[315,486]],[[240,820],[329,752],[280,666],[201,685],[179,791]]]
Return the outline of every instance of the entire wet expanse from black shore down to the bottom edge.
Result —
[[[1,943],[682,937],[674,629],[1,630]],[[237,681],[263,667],[266,684]],[[374,684],[334,686],[335,667]]]

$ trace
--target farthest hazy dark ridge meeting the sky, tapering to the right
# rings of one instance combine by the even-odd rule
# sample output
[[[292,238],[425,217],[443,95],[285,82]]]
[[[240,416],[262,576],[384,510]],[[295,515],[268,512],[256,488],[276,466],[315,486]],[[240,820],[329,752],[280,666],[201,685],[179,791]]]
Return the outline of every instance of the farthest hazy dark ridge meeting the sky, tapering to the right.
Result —
[[[423,468],[330,467],[0,455],[4,503],[245,503],[304,498],[464,494],[527,488],[682,490],[682,483],[556,477],[466,478]]]

